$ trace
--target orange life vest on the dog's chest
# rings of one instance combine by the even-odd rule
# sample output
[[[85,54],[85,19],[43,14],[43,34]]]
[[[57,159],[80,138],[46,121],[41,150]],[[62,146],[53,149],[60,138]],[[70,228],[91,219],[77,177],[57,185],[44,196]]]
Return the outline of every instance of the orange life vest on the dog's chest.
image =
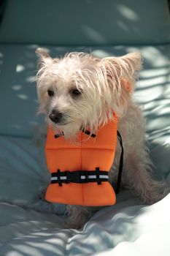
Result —
[[[53,203],[110,206],[116,203],[108,172],[115,157],[117,121],[109,121],[95,136],[80,132],[79,143],[55,136],[48,129],[45,154],[51,184],[45,199]],[[56,138],[58,137],[58,138]],[[88,140],[87,140],[88,138]]]

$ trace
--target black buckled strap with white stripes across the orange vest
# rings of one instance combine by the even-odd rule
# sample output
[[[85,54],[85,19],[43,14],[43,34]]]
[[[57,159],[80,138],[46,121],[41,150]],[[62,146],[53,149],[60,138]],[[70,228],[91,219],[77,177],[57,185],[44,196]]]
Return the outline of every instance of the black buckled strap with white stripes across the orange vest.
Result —
[[[97,182],[100,185],[101,182],[108,180],[108,172],[106,170],[99,170],[98,167],[96,167],[96,170],[75,170],[73,172],[69,170],[61,172],[58,170],[55,173],[51,173],[51,184],[58,183],[59,186],[62,186],[62,183],[69,184],[70,182],[80,184]]]

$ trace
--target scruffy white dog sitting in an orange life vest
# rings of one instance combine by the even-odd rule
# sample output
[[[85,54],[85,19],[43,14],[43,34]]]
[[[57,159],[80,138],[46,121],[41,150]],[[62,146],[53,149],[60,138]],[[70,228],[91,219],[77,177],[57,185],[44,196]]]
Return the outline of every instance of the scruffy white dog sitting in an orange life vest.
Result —
[[[87,53],[69,53],[63,59],[52,59],[43,49],[37,49],[36,53],[39,112],[45,113],[47,125],[55,132],[63,132],[74,143],[81,127],[90,127],[90,132],[95,134],[116,113],[124,147],[122,184],[133,189],[144,203],[161,200],[166,195],[166,185],[151,176],[152,162],[144,138],[145,120],[142,109],[132,99],[136,71],[142,69],[141,54],[96,59]],[[128,81],[130,89],[124,86],[123,80]],[[117,178],[119,161],[117,143],[109,172],[111,184]],[[67,223],[80,228],[92,211],[90,207],[68,206]]]

